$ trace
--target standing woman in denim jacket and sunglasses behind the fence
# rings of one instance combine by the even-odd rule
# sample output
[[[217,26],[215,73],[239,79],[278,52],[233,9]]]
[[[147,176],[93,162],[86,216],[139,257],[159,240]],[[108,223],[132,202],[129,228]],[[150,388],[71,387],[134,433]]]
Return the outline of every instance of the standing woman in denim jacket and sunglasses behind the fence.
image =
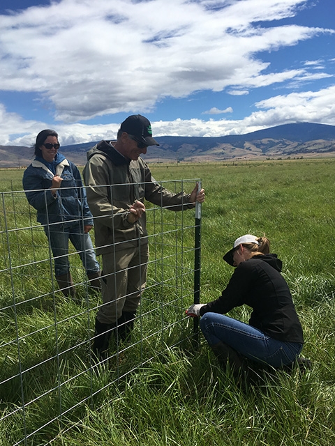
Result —
[[[80,171],[59,153],[58,134],[42,130],[36,137],[35,159],[24,171],[23,187],[37,210],[54,256],[54,272],[64,295],[75,295],[70,274],[68,240],[77,249],[91,286],[100,289],[100,266],[89,236],[93,217]]]

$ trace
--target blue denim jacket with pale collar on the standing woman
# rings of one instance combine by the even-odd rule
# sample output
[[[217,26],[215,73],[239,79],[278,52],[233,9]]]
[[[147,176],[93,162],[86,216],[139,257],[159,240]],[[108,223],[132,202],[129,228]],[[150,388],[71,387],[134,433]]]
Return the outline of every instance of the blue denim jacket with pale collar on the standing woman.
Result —
[[[37,210],[37,221],[50,224],[84,218],[84,225],[93,225],[86,190],[75,164],[64,158],[56,166],[56,175],[63,181],[54,197],[50,190],[54,174],[43,162],[34,160],[24,171],[23,188],[29,204]]]

